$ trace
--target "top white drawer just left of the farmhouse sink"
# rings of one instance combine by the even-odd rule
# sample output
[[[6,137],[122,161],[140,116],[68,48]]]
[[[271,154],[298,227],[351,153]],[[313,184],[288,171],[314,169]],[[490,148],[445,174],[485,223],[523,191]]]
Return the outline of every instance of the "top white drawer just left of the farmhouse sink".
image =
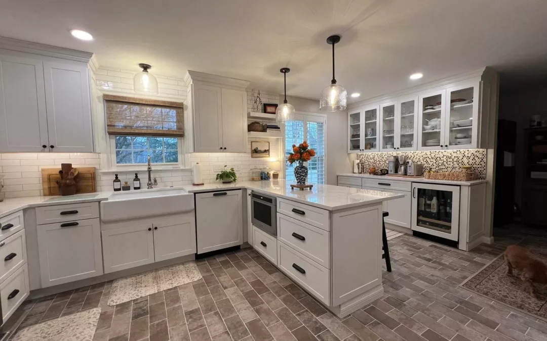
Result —
[[[72,220],[92,219],[98,217],[98,202],[84,202],[83,204],[36,207],[36,223],[38,225],[62,223]]]

